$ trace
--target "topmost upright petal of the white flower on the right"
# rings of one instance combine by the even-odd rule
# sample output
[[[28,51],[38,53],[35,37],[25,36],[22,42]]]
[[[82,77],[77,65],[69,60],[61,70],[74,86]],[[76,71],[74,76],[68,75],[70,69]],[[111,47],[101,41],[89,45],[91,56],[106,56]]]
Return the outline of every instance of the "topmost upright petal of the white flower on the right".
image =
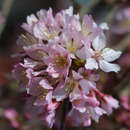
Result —
[[[106,46],[106,38],[104,33],[101,33],[100,36],[97,36],[93,42],[92,46],[96,51],[102,50]]]

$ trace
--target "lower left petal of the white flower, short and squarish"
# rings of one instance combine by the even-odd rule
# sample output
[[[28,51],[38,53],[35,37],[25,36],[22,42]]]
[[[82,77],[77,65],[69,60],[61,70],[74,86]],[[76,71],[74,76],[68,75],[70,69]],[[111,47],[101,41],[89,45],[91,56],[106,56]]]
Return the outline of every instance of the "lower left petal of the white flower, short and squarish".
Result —
[[[86,69],[98,69],[98,64],[94,58],[88,58],[85,64]]]

